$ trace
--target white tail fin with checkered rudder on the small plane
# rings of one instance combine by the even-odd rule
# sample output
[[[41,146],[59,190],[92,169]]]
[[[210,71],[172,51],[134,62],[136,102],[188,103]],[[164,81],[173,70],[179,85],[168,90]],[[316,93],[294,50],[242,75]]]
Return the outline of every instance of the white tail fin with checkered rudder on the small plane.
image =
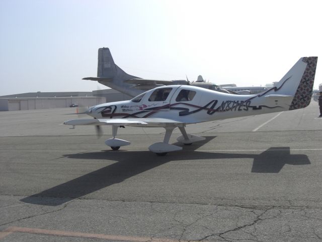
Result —
[[[276,85],[276,94],[293,96],[289,110],[310,104],[316,65],[317,57],[302,57]]]

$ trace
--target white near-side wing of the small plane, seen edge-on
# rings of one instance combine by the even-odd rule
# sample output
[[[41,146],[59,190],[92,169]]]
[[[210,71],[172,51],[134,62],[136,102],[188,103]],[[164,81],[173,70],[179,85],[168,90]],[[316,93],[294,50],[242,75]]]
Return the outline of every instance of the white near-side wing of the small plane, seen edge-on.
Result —
[[[92,118],[92,119],[72,119],[65,121],[64,125],[123,125],[142,127],[165,127],[169,124],[182,126],[184,123],[169,118]]]

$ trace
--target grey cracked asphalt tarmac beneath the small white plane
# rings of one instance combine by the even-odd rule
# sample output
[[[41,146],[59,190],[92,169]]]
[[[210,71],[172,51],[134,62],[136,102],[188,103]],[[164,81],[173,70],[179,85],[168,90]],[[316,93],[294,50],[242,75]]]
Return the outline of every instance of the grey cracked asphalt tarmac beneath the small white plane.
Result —
[[[0,112],[1,241],[322,241],[322,118],[304,108],[163,129],[60,125],[75,108]],[[171,137],[176,143],[179,131]]]

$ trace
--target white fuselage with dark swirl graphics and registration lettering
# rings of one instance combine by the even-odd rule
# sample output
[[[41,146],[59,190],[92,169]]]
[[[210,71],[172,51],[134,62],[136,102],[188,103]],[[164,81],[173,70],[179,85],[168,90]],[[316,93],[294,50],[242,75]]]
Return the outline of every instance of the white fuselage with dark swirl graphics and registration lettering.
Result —
[[[157,99],[158,92],[166,97]],[[180,97],[181,93],[186,97]],[[173,85],[149,90],[131,100],[104,103],[92,107],[87,114],[95,118],[171,118],[186,124],[231,117],[288,110],[291,99],[267,98],[264,95],[233,95],[204,88]],[[165,93],[163,93],[165,95]],[[265,101],[264,101],[265,99]]]

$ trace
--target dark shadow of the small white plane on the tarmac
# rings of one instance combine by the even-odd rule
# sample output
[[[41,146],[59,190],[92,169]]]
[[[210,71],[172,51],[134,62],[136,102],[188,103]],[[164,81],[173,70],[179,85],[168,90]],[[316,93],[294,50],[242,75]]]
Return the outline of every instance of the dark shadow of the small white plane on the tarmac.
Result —
[[[216,136],[205,137],[206,140],[191,146],[184,147],[184,151],[174,152],[168,156],[156,156],[150,151],[101,151],[86,152],[63,155],[72,159],[103,159],[115,160],[116,163],[105,166],[88,174],[82,175],[66,183],[42,191],[38,194],[21,199],[22,202],[58,206],[70,200],[80,198],[113,184],[121,183],[123,180],[153,169],[159,165],[174,160],[200,160],[200,159],[233,159],[253,158],[252,172],[278,173],[285,164],[306,165],[310,161],[306,155],[290,154],[290,147],[271,147],[261,154],[237,154],[195,151]],[[176,143],[175,145],[179,145]]]

